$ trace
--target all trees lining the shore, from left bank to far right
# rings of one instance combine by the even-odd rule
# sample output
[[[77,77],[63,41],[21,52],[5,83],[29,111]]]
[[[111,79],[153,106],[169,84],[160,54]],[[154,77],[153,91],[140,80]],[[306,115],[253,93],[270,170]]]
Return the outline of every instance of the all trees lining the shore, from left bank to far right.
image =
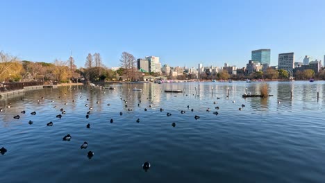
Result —
[[[57,81],[57,82],[100,82],[100,81],[115,81],[115,80],[128,80],[135,81],[141,80],[143,76],[153,75],[158,76],[158,73],[141,73],[136,67],[135,57],[128,52],[123,52],[119,59],[120,67],[117,71],[108,69],[102,62],[100,53],[89,53],[85,58],[85,67],[79,69],[74,64],[72,56],[68,60],[54,60],[52,63],[47,62],[31,62],[28,60],[19,60],[17,57],[9,55],[0,51],[0,81]],[[238,72],[236,75],[231,75],[227,70],[219,73],[206,73],[203,72],[200,76],[196,74],[184,73],[176,78],[179,80],[190,79],[203,79],[203,80],[233,80],[244,79],[268,79],[268,80],[285,80],[289,79],[288,71],[283,69],[268,68],[264,73],[256,71],[249,75],[246,73]],[[295,71],[295,80],[308,80],[315,78],[325,80],[325,70],[315,74],[313,70],[306,69],[304,71]]]

